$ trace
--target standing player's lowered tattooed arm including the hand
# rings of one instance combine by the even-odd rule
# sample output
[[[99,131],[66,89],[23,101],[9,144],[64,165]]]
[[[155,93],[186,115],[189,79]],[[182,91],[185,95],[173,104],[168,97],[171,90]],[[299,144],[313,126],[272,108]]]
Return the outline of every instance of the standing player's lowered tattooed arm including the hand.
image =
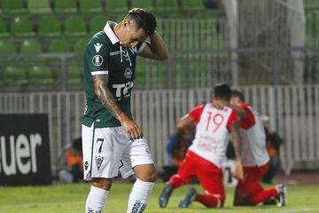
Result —
[[[93,75],[93,83],[97,99],[113,116],[121,122],[123,130],[128,134],[128,138],[142,138],[142,130],[137,126],[136,122],[130,120],[123,113],[112,92],[107,87],[109,81],[108,75]]]

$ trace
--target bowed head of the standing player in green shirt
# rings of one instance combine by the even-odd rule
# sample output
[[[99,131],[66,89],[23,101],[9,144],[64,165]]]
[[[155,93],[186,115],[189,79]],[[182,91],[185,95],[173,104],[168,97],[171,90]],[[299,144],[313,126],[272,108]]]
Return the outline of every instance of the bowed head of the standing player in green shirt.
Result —
[[[155,17],[141,8],[134,8],[120,23],[117,34],[121,44],[125,47],[136,47],[137,43],[151,36],[156,28]]]

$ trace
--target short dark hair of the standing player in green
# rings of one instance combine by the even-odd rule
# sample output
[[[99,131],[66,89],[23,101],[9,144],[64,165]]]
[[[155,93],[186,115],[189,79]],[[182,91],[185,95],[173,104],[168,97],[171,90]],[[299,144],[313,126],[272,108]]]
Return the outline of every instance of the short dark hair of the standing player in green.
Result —
[[[128,20],[135,20],[136,28],[144,29],[147,36],[151,36],[156,28],[156,20],[151,12],[146,12],[142,8],[133,8],[125,17]]]

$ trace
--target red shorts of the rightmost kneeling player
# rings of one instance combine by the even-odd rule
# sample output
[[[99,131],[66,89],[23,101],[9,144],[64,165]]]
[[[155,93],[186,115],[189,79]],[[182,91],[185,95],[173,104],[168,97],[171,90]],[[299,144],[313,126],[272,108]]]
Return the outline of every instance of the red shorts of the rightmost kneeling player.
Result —
[[[244,167],[244,179],[237,183],[237,190],[246,195],[253,195],[263,191],[260,184],[261,178],[267,173],[269,162],[261,167]]]

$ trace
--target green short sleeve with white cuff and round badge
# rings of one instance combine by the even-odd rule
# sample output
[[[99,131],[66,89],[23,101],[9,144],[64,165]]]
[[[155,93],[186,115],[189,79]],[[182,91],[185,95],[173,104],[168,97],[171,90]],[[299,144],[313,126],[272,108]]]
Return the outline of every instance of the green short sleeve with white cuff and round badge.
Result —
[[[110,51],[105,43],[88,43],[84,57],[91,75],[108,74]]]

